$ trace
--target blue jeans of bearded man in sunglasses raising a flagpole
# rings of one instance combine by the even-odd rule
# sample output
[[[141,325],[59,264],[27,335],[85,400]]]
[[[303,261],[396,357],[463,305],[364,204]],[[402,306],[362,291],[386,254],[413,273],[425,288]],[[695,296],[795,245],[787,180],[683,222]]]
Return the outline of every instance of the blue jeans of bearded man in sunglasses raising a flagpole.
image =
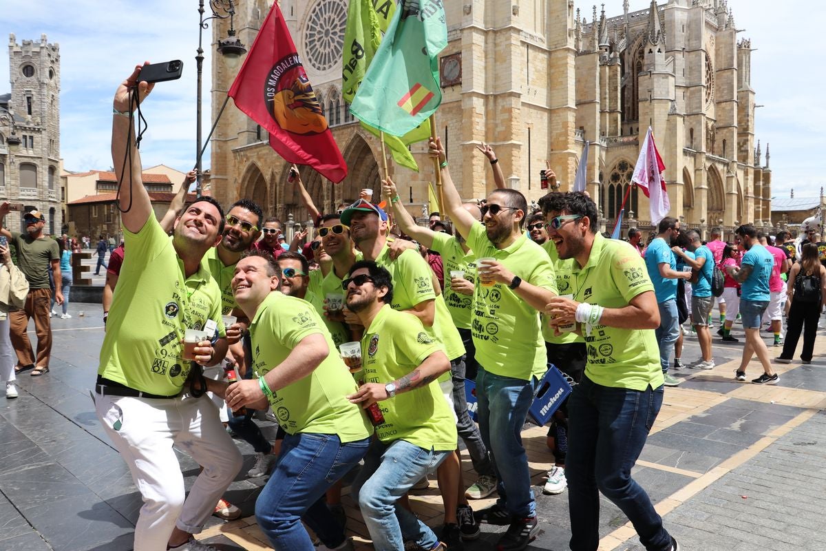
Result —
[[[497,503],[516,518],[536,515],[528,456],[522,446],[522,425],[538,382],[535,377],[525,381],[495,375],[481,365],[476,377],[479,430],[499,478]],[[496,438],[491,439],[491,435]]]

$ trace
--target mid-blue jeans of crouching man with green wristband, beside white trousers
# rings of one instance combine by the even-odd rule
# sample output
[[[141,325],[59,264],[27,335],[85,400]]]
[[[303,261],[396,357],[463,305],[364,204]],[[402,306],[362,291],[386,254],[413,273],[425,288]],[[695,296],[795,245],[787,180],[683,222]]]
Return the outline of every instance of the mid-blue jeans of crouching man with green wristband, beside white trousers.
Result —
[[[255,501],[255,518],[279,551],[315,551],[306,522],[329,548],[344,543],[344,526],[324,500],[325,492],[367,453],[370,439],[342,444],[337,435],[287,435],[278,464]]]

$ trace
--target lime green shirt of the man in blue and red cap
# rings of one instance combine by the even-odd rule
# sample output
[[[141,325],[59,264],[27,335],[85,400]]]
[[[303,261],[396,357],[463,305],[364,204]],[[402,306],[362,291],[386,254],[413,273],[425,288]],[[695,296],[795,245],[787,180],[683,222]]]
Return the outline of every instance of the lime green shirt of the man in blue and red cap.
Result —
[[[444,298],[436,296],[433,288],[433,271],[427,261],[415,250],[408,249],[397,259],[390,259],[390,248],[385,245],[376,259],[376,264],[390,272],[393,282],[393,310],[411,310],[413,306],[430,299],[434,300],[435,315],[433,325],[425,327],[427,334],[444,344],[448,359],[457,359],[465,353],[462,336],[459,335],[453,318],[450,317]]]

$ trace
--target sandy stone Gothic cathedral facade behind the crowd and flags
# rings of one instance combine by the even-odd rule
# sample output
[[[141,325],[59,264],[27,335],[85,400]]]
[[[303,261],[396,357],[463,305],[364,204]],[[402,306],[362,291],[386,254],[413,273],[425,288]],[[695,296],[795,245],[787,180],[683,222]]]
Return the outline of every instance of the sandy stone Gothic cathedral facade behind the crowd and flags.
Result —
[[[373,0],[381,9],[391,0]],[[546,162],[570,188],[585,140],[591,141],[587,182],[613,224],[628,188],[639,144],[652,126],[667,166],[672,214],[708,230],[745,221],[768,221],[771,171],[755,147],[751,44],[736,40],[733,14],[723,0],[668,0],[648,10],[597,16],[590,22],[570,0],[443,2],[449,45],[441,55],[443,102],[436,133],[447,147],[451,174],[463,197],[492,188],[490,144],[511,188],[529,200],[542,197],[539,171]],[[251,45],[268,0],[240,0],[235,27]],[[381,146],[363,131],[340,94],[341,42],[347,0],[282,0],[282,12],[335,139],[349,166],[342,185],[302,169],[316,205],[330,211],[360,188],[378,192]],[[226,34],[218,21],[213,42]],[[320,25],[334,32],[320,39]],[[338,33],[338,34],[337,34]],[[330,34],[330,33],[328,33]],[[330,64],[330,51],[339,59]],[[213,116],[235,78],[213,58]],[[456,63],[458,61],[458,64]],[[391,164],[402,199],[416,216],[435,178],[426,145],[411,147],[420,172]],[[282,218],[306,219],[287,183],[288,166],[267,144],[266,132],[228,107],[212,141],[213,193],[221,202],[252,197]],[[624,226],[647,226],[643,193],[629,193]]]

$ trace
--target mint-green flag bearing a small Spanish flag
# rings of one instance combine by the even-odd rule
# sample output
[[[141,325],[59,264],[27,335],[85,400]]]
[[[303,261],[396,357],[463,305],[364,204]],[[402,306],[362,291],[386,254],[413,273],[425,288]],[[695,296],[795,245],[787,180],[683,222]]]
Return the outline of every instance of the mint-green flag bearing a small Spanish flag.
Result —
[[[447,44],[442,0],[399,0],[350,112],[396,136],[420,126],[442,102],[439,52]]]

